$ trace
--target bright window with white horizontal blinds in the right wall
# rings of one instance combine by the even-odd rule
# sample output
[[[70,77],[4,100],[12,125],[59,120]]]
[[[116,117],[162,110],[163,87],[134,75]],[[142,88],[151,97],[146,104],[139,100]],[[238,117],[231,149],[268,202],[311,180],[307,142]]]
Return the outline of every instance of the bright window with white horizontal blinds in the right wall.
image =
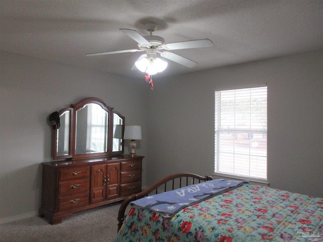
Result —
[[[216,90],[215,172],[267,178],[267,87]]]

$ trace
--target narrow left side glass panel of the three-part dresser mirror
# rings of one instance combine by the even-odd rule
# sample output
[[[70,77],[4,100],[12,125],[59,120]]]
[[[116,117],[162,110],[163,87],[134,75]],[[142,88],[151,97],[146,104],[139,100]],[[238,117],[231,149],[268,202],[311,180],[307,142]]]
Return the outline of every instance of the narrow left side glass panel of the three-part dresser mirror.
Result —
[[[57,155],[69,155],[70,144],[70,111],[65,111],[60,115],[61,127],[57,130]]]

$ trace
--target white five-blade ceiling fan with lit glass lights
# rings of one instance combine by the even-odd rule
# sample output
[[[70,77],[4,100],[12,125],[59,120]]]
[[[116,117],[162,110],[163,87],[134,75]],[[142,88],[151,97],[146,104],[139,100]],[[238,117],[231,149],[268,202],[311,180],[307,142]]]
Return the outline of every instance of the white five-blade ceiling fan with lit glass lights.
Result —
[[[197,39],[174,43],[165,43],[165,39],[160,36],[152,35],[152,32],[156,30],[157,24],[154,22],[148,22],[145,24],[145,28],[150,32],[150,35],[141,36],[136,30],[132,29],[120,29],[123,33],[128,35],[130,38],[138,43],[138,49],[125,49],[117,51],[89,53],[87,56],[104,55],[104,54],[118,54],[126,52],[139,52],[145,51],[136,61],[134,67],[137,67],[140,71],[146,72],[149,76],[154,75],[157,72],[162,72],[167,67],[167,62],[164,62],[157,57],[157,53],[160,56],[169,59],[173,62],[179,63],[185,67],[193,68],[197,65],[196,62],[172,53],[169,50],[175,49],[188,49],[188,48],[199,48],[199,47],[210,47],[213,46],[213,42],[209,39]],[[166,50],[166,51],[163,51]],[[134,68],[133,67],[133,68]],[[132,68],[132,69],[133,69]]]

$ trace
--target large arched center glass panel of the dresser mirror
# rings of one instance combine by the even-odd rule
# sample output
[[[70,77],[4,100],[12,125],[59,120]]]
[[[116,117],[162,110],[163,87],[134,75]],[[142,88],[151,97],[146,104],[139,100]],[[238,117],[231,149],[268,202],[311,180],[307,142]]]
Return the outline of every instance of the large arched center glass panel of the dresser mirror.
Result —
[[[98,104],[77,110],[75,154],[107,152],[107,123],[108,113]]]

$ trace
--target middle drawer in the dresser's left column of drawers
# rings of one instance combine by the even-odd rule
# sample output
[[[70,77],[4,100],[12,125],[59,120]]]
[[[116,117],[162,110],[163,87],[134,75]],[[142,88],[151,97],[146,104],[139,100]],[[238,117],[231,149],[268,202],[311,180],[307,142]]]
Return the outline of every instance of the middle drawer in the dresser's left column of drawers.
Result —
[[[61,181],[59,185],[59,196],[69,196],[90,191],[90,179],[76,179]]]

